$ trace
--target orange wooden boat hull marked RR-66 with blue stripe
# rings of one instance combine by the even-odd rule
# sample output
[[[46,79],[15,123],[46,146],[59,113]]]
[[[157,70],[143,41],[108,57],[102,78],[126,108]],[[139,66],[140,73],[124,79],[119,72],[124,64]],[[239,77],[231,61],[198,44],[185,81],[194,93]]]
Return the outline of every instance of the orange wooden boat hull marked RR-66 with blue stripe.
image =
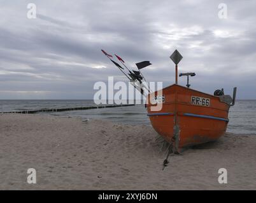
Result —
[[[162,102],[155,104],[152,99],[157,95]],[[178,152],[184,147],[220,138],[227,129],[229,107],[218,96],[177,84],[162,89],[162,93],[150,94],[146,106],[155,131],[173,143]]]

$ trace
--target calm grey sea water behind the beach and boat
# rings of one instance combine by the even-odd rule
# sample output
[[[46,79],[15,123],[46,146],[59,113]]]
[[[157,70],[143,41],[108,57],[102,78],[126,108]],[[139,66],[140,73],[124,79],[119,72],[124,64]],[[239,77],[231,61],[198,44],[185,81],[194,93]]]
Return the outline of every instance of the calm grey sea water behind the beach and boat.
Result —
[[[94,106],[93,100],[0,100],[0,112],[39,110],[42,108],[68,108]],[[84,119],[108,119],[126,124],[150,125],[144,105],[131,107],[99,108],[67,112],[38,114],[82,117]],[[256,100],[238,100],[229,112],[228,132],[256,134]]]

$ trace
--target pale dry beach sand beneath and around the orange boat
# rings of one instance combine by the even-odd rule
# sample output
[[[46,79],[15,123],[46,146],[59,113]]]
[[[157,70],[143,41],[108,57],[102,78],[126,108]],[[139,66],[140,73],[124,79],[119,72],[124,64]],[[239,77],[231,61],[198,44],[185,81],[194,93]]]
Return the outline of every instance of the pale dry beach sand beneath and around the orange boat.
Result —
[[[151,126],[44,115],[0,115],[1,190],[256,189],[256,136],[227,133],[171,155]],[[227,184],[218,169],[227,169]],[[27,169],[37,183],[27,183]]]

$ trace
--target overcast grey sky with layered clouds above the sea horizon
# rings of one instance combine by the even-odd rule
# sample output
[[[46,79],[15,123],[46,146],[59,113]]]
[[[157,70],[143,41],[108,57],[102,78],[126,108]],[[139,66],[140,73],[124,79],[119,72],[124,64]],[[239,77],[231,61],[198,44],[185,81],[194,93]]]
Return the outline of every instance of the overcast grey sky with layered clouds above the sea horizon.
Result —
[[[97,81],[127,81],[100,49],[142,69],[148,81],[174,83],[196,72],[191,88],[206,93],[238,86],[256,99],[256,1],[0,0],[0,99],[90,99]],[[36,19],[27,4],[36,4]],[[218,4],[227,5],[219,18]],[[186,78],[179,78],[185,85]]]

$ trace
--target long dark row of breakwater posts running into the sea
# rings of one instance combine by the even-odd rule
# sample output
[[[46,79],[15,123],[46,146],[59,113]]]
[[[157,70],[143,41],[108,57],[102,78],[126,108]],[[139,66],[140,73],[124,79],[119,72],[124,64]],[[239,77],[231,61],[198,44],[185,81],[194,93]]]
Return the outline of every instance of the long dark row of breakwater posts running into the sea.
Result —
[[[134,104],[125,105],[106,105],[106,106],[92,106],[92,107],[69,107],[69,108],[44,108],[40,110],[22,110],[13,112],[2,112],[2,114],[36,114],[38,112],[64,112],[68,110],[89,110],[93,108],[113,108],[113,107],[129,107],[134,106]]]

